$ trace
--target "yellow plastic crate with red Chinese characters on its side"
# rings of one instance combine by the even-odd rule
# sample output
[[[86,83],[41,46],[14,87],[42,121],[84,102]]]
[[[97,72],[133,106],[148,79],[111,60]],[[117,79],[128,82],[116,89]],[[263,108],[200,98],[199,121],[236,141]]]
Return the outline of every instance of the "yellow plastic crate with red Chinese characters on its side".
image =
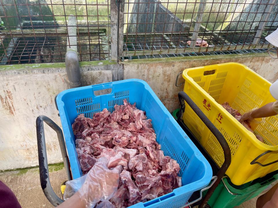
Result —
[[[251,165],[266,151],[278,151],[278,116],[266,118],[260,124],[251,123],[255,134],[241,125],[220,104],[229,102],[241,114],[275,101],[269,92],[271,83],[239,63],[224,63],[189,68],[183,71],[184,92],[197,104],[209,120],[224,135],[231,149],[231,165],[226,174],[235,185],[242,185],[278,169],[278,163],[262,167]],[[185,103],[183,121],[214,161],[222,166],[223,150],[193,110]],[[266,153],[257,161],[268,164],[278,159],[277,152]]]

